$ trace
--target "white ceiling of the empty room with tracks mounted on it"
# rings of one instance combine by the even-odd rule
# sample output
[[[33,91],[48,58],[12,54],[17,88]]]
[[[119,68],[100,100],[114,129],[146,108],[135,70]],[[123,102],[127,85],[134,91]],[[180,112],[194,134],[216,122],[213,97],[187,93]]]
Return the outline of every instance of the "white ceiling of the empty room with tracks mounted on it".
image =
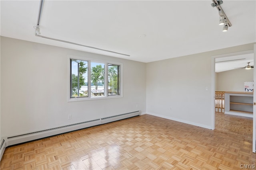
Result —
[[[1,36],[141,62],[256,42],[256,1],[224,0],[232,27],[222,32],[211,0],[47,0],[41,35],[127,54],[118,55],[35,36],[39,0],[1,0]],[[246,64],[246,62],[245,62]],[[244,66],[244,64],[242,65]]]

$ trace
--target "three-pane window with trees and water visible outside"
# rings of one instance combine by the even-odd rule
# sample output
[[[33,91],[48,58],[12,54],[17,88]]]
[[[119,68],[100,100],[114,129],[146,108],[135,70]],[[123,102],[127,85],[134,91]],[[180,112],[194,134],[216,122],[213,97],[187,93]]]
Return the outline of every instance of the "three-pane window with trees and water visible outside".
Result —
[[[69,101],[120,96],[120,68],[121,64],[70,59]]]

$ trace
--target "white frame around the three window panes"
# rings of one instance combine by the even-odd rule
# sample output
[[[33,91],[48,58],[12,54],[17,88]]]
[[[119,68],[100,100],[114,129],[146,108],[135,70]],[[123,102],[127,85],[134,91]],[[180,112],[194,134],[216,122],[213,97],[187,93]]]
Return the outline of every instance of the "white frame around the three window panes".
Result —
[[[82,60],[82,61],[88,61],[88,97],[78,97],[78,98],[70,98],[70,59],[76,59],[76,60]],[[104,96],[91,96],[91,62],[95,63],[102,63],[105,64],[104,66]],[[91,59],[87,57],[81,57],[81,56],[74,56],[74,55],[68,55],[68,102],[78,102],[78,101],[86,101],[86,100],[102,100],[102,99],[113,99],[113,98],[122,98],[123,97],[123,64],[112,62],[112,61],[104,61],[104,60],[98,60],[98,59]],[[108,95],[108,64],[116,64],[120,65],[120,94],[119,95]],[[106,89],[106,90],[105,90]]]

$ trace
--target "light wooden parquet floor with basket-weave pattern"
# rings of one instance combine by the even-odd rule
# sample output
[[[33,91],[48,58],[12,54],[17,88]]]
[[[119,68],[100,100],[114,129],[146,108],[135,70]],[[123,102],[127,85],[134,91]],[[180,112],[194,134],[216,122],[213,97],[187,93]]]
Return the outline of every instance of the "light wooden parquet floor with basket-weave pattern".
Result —
[[[216,113],[210,130],[145,114],[8,147],[0,168],[236,170],[249,164],[256,164],[252,118]]]

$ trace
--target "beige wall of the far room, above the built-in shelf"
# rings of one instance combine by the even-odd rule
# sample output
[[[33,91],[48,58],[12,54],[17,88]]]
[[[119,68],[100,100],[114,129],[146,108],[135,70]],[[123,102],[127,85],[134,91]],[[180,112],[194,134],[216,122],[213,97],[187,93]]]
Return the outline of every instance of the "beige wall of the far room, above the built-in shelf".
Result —
[[[253,69],[234,69],[216,74],[216,91],[244,92],[244,82],[253,82]]]

